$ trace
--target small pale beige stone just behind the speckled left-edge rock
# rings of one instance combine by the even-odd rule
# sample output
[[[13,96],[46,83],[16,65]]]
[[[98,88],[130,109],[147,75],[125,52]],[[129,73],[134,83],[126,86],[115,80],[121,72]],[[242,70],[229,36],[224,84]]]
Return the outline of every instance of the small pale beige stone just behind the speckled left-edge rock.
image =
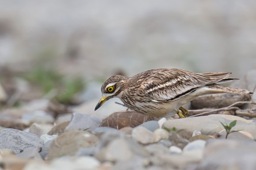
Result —
[[[32,134],[41,136],[43,134],[47,134],[49,132],[49,130],[51,130],[52,128],[53,128],[52,124],[33,123],[29,128],[29,132]]]

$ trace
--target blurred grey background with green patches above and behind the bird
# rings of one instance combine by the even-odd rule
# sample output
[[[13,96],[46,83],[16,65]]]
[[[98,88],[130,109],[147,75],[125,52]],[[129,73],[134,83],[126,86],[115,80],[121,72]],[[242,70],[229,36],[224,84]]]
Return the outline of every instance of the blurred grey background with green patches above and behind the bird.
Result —
[[[9,105],[99,100],[109,76],[155,68],[235,78],[256,69],[256,1],[0,0],[0,83]]]

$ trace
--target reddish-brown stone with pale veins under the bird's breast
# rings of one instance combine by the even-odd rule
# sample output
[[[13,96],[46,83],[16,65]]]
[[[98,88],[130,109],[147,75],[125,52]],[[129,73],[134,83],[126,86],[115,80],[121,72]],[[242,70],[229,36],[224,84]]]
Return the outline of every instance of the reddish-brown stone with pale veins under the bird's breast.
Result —
[[[113,127],[116,129],[136,127],[149,120],[154,120],[154,118],[139,112],[115,112],[103,119],[100,127]]]

